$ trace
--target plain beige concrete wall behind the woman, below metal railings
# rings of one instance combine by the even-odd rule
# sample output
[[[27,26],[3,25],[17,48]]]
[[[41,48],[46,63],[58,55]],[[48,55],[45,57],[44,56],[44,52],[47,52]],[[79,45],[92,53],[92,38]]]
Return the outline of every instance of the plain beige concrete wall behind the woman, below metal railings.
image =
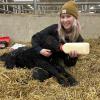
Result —
[[[100,36],[100,15],[80,15],[84,38]],[[0,35],[9,35],[13,41],[30,42],[36,32],[57,23],[57,16],[0,15]]]

